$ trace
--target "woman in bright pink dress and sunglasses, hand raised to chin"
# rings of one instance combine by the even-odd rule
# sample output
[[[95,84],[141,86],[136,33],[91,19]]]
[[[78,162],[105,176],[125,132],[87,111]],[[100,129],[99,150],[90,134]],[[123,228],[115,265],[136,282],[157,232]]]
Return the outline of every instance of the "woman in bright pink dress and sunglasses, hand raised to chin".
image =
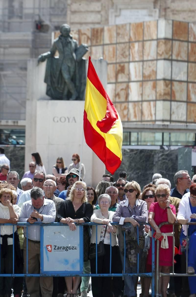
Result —
[[[174,224],[176,222],[176,209],[175,206],[170,204],[170,188],[168,185],[158,185],[155,194],[158,202],[151,204],[149,208],[148,222],[156,232],[156,239],[159,239],[162,235],[164,236],[159,249],[159,272],[170,273],[170,267],[173,265],[173,226],[163,225],[159,229],[158,225],[163,222]],[[147,264],[152,264],[152,247],[150,247],[148,252]],[[167,297],[168,283],[169,276],[159,278],[159,294],[162,294],[163,297]]]

